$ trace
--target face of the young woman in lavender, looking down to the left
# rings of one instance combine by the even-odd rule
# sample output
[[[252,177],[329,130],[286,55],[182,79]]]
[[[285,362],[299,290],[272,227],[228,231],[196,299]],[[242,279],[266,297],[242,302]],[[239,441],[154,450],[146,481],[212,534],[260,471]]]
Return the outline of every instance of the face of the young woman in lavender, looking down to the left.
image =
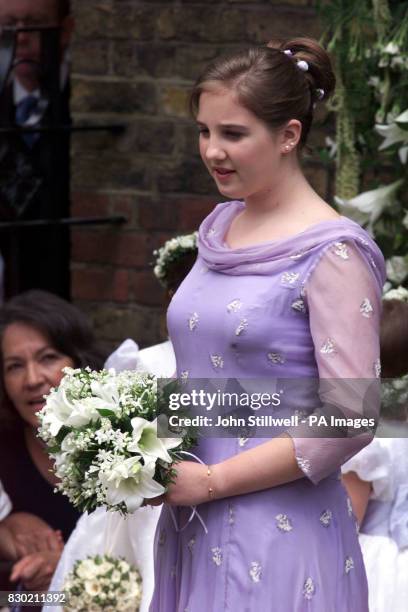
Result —
[[[273,188],[282,163],[282,135],[239,104],[233,91],[204,91],[197,125],[201,158],[223,195],[247,199]]]

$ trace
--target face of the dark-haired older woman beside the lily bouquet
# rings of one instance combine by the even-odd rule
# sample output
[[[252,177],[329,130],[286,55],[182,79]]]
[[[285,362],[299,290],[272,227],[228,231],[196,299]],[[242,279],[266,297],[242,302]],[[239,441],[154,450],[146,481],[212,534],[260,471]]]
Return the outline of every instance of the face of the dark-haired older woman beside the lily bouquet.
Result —
[[[24,421],[37,427],[35,413],[45,404],[43,396],[59,385],[62,368],[74,367],[74,363],[39,330],[25,323],[12,323],[6,328],[1,349],[7,395]]]

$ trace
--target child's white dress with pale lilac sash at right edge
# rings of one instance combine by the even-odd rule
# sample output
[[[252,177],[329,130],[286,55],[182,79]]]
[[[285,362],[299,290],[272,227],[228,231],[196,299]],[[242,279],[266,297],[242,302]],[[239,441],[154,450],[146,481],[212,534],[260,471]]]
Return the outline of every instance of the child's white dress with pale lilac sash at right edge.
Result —
[[[372,483],[359,536],[370,612],[407,612],[408,439],[375,438],[342,471]]]

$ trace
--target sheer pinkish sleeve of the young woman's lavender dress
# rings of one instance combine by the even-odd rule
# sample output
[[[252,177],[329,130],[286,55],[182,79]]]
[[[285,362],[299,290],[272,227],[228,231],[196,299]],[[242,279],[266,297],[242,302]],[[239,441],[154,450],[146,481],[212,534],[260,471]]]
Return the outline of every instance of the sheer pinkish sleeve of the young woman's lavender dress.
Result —
[[[332,244],[305,281],[305,300],[319,380],[326,383],[323,406],[332,414],[378,418],[380,406],[379,325],[381,289],[354,242]],[[323,380],[322,380],[323,379]],[[326,379],[326,380],[324,380]],[[328,379],[328,380],[327,380]],[[315,484],[337,470],[372,440],[334,427],[293,438],[299,467]]]

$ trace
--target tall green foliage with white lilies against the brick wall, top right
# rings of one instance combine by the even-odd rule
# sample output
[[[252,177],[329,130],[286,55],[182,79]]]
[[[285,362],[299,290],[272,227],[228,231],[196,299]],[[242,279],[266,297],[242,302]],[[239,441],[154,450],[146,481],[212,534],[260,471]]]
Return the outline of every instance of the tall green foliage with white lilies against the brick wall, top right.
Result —
[[[317,2],[322,43],[337,92],[331,152],[335,202],[374,236],[387,260],[387,288],[408,285],[408,4],[406,0]]]

